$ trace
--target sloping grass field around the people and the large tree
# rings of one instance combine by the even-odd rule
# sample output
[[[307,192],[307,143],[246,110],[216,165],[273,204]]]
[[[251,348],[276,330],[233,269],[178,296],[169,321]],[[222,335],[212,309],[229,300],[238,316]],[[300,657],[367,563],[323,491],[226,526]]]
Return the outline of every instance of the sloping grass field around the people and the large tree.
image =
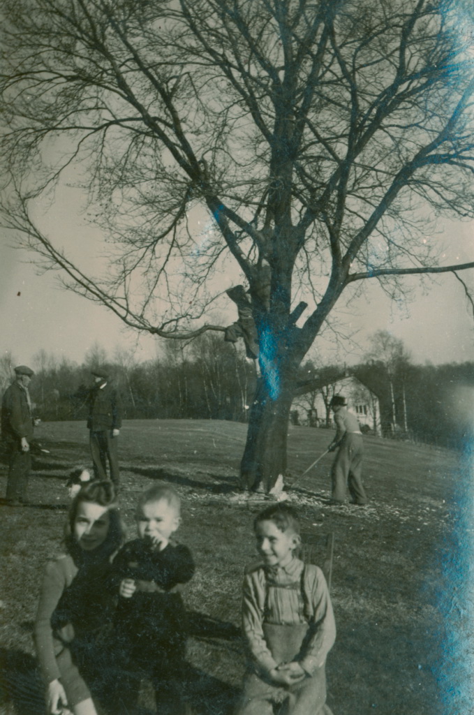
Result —
[[[120,437],[122,511],[131,537],[143,488],[167,480],[182,495],[178,536],[198,566],[185,591],[193,697],[197,713],[209,715],[230,714],[245,667],[237,628],[240,584],[245,564],[255,561],[252,518],[261,507],[227,503],[245,432],[236,423],[153,420],[126,422]],[[31,506],[0,507],[2,715],[41,715],[33,700],[38,684],[31,640],[39,580],[59,551],[68,501],[64,478],[75,465],[89,465],[84,424],[46,423],[37,437],[51,455],[36,460]],[[290,428],[287,485],[331,437],[326,430]],[[327,661],[328,704],[334,715],[467,715],[463,684],[450,681],[454,656],[446,644],[455,625],[443,603],[449,596],[446,564],[453,561],[455,540],[463,538],[456,531],[460,479],[467,483],[470,475],[448,450],[367,437],[370,506],[330,507],[331,458],[288,490],[305,531],[335,533],[337,641]],[[5,467],[0,481],[4,489]],[[149,704],[147,692],[143,702]]]

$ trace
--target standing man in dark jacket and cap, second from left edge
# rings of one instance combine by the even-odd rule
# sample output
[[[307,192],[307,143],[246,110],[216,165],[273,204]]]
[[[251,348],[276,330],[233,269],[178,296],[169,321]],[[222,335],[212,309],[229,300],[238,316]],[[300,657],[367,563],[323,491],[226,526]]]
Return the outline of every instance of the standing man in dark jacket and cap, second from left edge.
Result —
[[[116,388],[109,383],[107,370],[97,368],[92,370],[95,385],[89,392],[87,405],[89,417],[89,444],[94,475],[99,479],[112,480],[115,487],[119,488],[119,458],[118,437],[122,427],[122,403]],[[110,468],[110,477],[107,477],[107,462]]]

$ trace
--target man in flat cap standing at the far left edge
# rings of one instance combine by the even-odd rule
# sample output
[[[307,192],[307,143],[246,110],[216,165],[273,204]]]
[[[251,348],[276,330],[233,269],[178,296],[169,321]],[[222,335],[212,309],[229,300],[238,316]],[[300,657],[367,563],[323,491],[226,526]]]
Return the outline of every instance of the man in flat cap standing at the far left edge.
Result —
[[[26,365],[15,368],[15,381],[5,390],[1,402],[1,438],[9,459],[6,501],[11,505],[27,502],[26,489],[31,470],[30,443],[35,425],[28,385],[33,375],[33,370]]]

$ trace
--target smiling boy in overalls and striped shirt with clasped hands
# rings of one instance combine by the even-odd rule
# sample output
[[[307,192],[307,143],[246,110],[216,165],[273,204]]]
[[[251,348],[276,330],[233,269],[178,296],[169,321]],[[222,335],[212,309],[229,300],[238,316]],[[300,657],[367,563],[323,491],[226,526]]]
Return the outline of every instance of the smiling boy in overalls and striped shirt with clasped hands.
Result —
[[[325,662],[335,622],[322,571],[295,556],[300,525],[291,506],[277,504],[254,522],[262,563],[244,581],[242,626],[250,667],[237,715],[331,715]]]

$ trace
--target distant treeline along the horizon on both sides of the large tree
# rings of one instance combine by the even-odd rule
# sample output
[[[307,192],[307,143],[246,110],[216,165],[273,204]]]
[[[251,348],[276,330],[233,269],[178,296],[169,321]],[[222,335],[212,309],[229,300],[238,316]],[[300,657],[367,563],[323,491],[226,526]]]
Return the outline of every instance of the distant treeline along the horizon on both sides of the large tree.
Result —
[[[0,359],[2,391],[13,379],[16,360]],[[85,400],[92,386],[91,370],[107,365],[122,395],[127,419],[211,419],[245,422],[255,390],[255,363],[242,346],[206,333],[192,342],[167,340],[163,354],[137,363],[132,351],[116,350],[109,358],[99,346],[87,352],[82,365],[40,350],[31,365],[35,377],[31,398],[43,420],[84,420]],[[337,365],[309,371],[337,380]],[[350,368],[380,400],[382,433],[456,447],[472,433],[474,363],[413,365],[404,358],[389,364],[367,360]],[[347,374],[347,370],[346,373]]]

